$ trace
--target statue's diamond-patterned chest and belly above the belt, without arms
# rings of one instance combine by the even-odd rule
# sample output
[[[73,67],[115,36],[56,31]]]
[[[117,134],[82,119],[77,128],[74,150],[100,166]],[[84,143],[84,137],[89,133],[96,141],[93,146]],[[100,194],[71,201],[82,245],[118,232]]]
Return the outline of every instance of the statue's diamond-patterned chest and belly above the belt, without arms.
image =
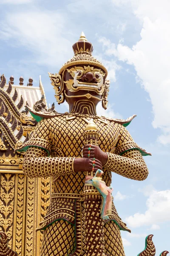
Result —
[[[70,118],[70,119],[69,119]],[[54,117],[49,120],[49,137],[54,157],[81,157],[82,146],[85,145],[84,131],[90,118],[79,116]],[[94,119],[99,131],[99,147],[103,151],[114,151],[121,131],[121,125],[106,119]],[[109,175],[109,176],[108,176]],[[79,193],[84,186],[85,173],[59,177],[53,186],[54,192]],[[55,178],[54,178],[55,179]],[[108,186],[111,174],[103,176]]]

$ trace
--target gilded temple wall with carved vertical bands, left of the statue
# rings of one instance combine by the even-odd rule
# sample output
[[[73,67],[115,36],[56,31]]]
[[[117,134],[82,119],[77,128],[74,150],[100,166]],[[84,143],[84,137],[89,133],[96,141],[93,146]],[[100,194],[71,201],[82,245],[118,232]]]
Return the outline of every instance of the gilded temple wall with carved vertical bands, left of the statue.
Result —
[[[18,256],[39,256],[42,232],[36,228],[49,206],[50,178],[0,172],[0,231]]]

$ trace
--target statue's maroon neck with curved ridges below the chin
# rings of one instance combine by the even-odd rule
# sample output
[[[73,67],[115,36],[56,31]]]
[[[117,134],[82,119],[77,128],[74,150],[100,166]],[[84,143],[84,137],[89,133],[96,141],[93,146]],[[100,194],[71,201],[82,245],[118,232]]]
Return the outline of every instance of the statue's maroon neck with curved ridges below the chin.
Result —
[[[73,105],[69,105],[69,113],[79,113],[96,116],[96,105],[90,100],[75,101]]]

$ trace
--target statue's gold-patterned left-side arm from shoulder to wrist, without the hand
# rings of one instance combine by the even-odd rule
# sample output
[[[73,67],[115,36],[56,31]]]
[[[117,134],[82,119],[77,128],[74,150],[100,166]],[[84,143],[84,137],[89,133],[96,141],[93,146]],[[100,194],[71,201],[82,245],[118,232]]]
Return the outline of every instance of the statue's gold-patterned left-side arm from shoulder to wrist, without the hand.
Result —
[[[51,120],[38,122],[30,140],[19,151],[26,151],[23,172],[28,177],[49,177],[74,173],[74,157],[50,157]]]

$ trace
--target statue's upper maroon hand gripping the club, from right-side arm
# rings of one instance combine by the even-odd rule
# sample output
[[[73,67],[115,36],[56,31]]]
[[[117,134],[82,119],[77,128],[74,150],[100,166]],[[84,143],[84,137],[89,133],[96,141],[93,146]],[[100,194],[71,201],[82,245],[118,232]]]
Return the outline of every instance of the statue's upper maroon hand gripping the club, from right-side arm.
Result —
[[[88,157],[88,152],[89,152],[89,145],[83,146],[83,149],[82,149],[83,157]],[[108,160],[108,154],[106,152],[103,152],[102,149],[100,149],[98,146],[95,146],[95,145],[91,145],[90,157],[94,157],[95,159],[100,160],[100,162],[102,163],[102,166],[104,166]]]

